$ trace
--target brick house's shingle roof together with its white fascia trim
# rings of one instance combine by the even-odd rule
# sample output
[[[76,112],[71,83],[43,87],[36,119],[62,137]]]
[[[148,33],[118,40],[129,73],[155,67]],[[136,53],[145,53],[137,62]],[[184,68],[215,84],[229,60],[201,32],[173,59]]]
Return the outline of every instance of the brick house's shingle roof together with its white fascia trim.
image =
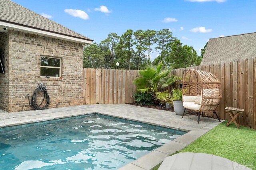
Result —
[[[0,0],[0,25],[7,26],[9,29],[21,29],[60,39],[70,38],[70,40],[74,39],[83,43],[93,41],[10,0]]]

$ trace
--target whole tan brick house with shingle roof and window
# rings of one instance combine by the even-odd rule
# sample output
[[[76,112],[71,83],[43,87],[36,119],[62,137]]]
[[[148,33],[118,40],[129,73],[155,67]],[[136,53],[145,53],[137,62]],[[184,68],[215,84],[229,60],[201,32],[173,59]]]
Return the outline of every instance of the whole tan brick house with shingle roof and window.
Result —
[[[83,47],[92,42],[10,0],[0,0],[0,109],[30,110],[26,94],[41,82],[50,96],[49,108],[83,104]]]

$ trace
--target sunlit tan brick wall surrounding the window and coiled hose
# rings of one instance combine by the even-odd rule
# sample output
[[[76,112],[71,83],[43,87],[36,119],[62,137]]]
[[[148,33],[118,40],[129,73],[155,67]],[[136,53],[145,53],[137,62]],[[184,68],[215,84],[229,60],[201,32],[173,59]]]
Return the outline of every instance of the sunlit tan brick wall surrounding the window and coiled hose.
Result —
[[[40,78],[40,57],[62,59],[62,79]],[[83,45],[19,31],[9,31],[9,112],[30,110],[28,98],[42,82],[50,106],[83,104]],[[40,96],[42,94],[38,94]]]

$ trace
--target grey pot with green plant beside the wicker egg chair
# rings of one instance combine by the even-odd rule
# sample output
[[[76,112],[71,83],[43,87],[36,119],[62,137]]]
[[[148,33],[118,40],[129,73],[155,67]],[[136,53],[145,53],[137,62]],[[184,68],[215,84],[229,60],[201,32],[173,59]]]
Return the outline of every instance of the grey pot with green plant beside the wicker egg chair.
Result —
[[[184,112],[184,107],[183,107],[183,102],[182,102],[182,91],[180,89],[174,88],[172,89],[172,103],[174,107],[174,112],[177,115],[183,115]],[[188,110],[185,111],[184,115]]]

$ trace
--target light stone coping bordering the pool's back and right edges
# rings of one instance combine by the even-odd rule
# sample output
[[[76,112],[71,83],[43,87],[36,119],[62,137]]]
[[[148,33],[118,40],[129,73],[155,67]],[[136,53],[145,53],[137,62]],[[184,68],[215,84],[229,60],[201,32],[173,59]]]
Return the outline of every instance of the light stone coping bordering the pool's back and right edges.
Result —
[[[204,129],[197,129],[189,126],[183,126],[183,125],[175,125],[173,123],[166,123],[163,121],[154,121],[150,119],[145,119],[145,118],[140,118],[127,115],[116,115],[114,113],[102,113],[102,111],[90,111],[90,112],[84,112],[84,113],[63,113],[63,112],[56,112],[54,115],[46,115],[45,117],[40,117],[40,118],[33,118],[33,115],[26,116],[28,119],[26,120],[16,120],[16,121],[6,121],[4,123],[0,123],[0,128],[2,127],[11,127],[11,126],[16,126],[16,125],[24,125],[28,123],[37,123],[41,121],[49,121],[49,120],[54,120],[54,119],[62,119],[62,118],[67,118],[67,117],[75,117],[75,116],[80,116],[80,115],[88,115],[88,114],[99,114],[99,115],[106,115],[106,116],[111,116],[111,117],[116,117],[116,118],[121,118],[121,119],[126,119],[130,121],[136,121],[136,122],[141,122],[141,123],[147,123],[150,125],[156,125],[160,127],[166,127],[166,128],[171,128],[171,129],[176,129],[180,131],[186,131],[187,133],[184,135],[181,135],[180,137],[174,139],[170,143],[167,143],[154,151],[134,160],[133,162],[126,164],[125,166],[119,168],[118,170],[152,170],[155,166],[161,164],[164,160],[164,158],[168,157],[170,154],[183,149],[208,131],[218,125],[218,123],[212,123],[211,127],[207,127]],[[30,119],[31,117],[31,119]]]

